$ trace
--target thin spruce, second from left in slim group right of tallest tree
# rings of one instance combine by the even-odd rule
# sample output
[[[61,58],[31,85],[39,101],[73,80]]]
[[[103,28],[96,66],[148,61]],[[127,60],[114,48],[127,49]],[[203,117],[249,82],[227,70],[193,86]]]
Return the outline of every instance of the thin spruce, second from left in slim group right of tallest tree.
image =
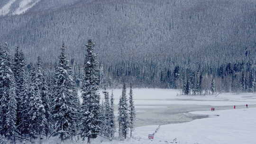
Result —
[[[115,136],[116,127],[115,127],[115,115],[114,115],[114,94],[113,90],[110,96],[110,140],[112,140]]]

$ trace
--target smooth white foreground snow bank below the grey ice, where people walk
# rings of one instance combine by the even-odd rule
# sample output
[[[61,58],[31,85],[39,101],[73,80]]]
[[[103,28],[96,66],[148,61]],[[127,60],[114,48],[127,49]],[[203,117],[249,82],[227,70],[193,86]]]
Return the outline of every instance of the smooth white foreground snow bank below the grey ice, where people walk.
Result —
[[[158,127],[141,126],[133,132],[133,137],[125,141],[108,141],[104,138],[93,139],[91,144],[255,144],[256,143],[256,108],[228,109],[217,111],[196,111],[192,114],[219,115],[196,119],[187,123],[160,126],[154,140],[147,138]],[[56,144],[59,139],[43,140],[36,144]],[[27,143],[26,143],[27,144]],[[29,143],[30,144],[30,143]],[[86,141],[64,144],[86,144]]]

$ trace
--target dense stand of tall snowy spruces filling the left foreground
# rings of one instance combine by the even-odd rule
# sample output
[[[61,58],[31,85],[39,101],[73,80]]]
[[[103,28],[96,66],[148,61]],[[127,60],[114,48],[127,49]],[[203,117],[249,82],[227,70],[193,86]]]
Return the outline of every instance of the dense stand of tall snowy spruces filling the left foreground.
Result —
[[[46,74],[42,59],[26,64],[25,55],[17,47],[11,58],[9,46],[0,45],[0,138],[30,140],[45,135],[58,136],[63,142],[80,135],[91,143],[92,138],[115,134],[114,96],[104,89],[104,103],[100,104],[100,67],[94,52],[94,42],[86,44],[83,74],[82,103],[74,81],[74,72],[63,44],[55,71]],[[132,92],[131,92],[132,95]],[[132,129],[135,120],[133,98],[130,97]],[[128,108],[128,107],[127,107]],[[123,117],[123,116],[120,116]]]

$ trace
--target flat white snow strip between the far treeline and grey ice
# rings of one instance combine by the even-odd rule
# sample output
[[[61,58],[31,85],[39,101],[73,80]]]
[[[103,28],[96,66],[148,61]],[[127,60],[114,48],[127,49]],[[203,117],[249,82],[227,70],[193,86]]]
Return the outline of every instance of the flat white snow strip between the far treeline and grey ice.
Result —
[[[102,90],[101,90],[102,91]],[[111,95],[111,90],[108,90]],[[129,89],[127,88],[127,95]],[[121,89],[113,90],[115,104],[118,104]],[[254,105],[256,104],[256,94],[252,93],[220,93],[218,95],[207,96],[184,96],[179,95],[180,90],[173,89],[134,89],[134,99],[136,105],[211,105],[211,106],[233,106],[233,105]],[[101,92],[101,99],[104,96]]]

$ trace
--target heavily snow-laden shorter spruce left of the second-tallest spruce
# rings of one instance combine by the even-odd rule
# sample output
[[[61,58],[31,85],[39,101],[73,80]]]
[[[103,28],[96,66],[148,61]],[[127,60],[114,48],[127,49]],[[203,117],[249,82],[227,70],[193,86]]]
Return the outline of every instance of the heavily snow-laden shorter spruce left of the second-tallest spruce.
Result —
[[[45,108],[39,90],[39,79],[37,77],[37,68],[31,65],[30,71],[30,84],[29,84],[29,102],[28,102],[28,118],[30,138],[35,138],[39,135],[41,138],[42,132],[45,130],[47,123],[45,116]]]

